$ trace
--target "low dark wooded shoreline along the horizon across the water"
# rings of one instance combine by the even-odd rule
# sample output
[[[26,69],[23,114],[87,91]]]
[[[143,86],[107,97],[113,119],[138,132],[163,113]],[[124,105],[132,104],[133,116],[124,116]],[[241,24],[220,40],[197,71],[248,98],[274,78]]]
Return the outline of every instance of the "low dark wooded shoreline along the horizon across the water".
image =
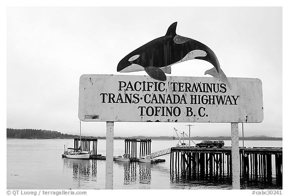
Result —
[[[74,138],[79,137],[79,135],[73,134],[63,134],[61,132],[55,130],[43,130],[43,129],[14,129],[14,128],[7,128],[6,129],[7,138],[26,138],[26,139],[52,139],[52,138]],[[98,139],[105,139],[105,137],[101,136],[84,136],[90,138],[98,138]],[[177,140],[177,137],[173,136],[130,136],[130,137],[120,137],[115,136],[114,139],[125,139],[125,138],[151,138],[151,139],[166,139],[166,140]],[[185,137],[185,139],[188,139]],[[194,136],[191,137],[193,140],[231,140],[230,136],[218,136],[218,137],[211,137],[211,136]],[[239,137],[239,140],[242,140],[242,137]],[[265,135],[261,136],[252,136],[252,137],[244,137],[244,140],[282,140],[282,137],[269,137]]]

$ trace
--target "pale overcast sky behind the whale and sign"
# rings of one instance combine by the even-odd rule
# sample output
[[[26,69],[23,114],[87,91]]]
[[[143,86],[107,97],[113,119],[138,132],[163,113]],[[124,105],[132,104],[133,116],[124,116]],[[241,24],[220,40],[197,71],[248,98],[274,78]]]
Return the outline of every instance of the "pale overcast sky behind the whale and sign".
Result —
[[[281,7],[8,7],[7,128],[78,134],[82,74],[119,73],[135,48],[166,34],[208,45],[228,77],[259,78],[264,119],[244,123],[244,136],[282,136]],[[212,64],[187,60],[176,76],[205,76]],[[115,122],[114,136],[176,136],[189,123]],[[230,136],[230,123],[190,123],[192,136]],[[241,128],[241,124],[240,124]],[[83,135],[105,136],[105,122],[82,122]],[[241,129],[240,129],[241,134]]]

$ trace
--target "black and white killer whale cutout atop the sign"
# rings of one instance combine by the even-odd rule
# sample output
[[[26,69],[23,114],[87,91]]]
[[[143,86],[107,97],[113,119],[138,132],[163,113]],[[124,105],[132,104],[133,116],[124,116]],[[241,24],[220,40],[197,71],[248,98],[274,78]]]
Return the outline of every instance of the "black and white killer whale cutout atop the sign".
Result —
[[[145,71],[152,78],[157,79],[157,80],[162,80],[162,81],[166,80],[165,73],[171,73],[171,65],[173,64],[176,64],[178,62],[182,62],[185,60],[189,60],[189,59],[206,60],[214,65],[215,72],[209,71],[210,70],[209,69],[205,72],[205,74],[210,74],[213,77],[220,79],[221,81],[227,83],[230,86],[230,82],[228,81],[225,73],[221,70],[215,53],[208,46],[206,46],[205,44],[199,41],[196,41],[189,37],[178,35],[176,33],[176,28],[177,28],[177,22],[172,23],[169,26],[165,36],[158,37],[146,43],[145,45],[140,46],[139,48],[130,52],[130,55],[128,54],[127,56],[129,57],[132,57],[133,55],[137,56],[137,59],[133,59],[135,60],[133,63],[136,63],[144,67]],[[185,44],[185,45],[182,45],[182,44]],[[168,53],[168,54],[165,53],[165,52],[172,51],[172,50],[174,50],[174,52]],[[166,59],[158,58],[156,57],[156,53],[154,52],[158,52],[159,55],[161,54],[161,56],[167,55],[167,58]],[[145,54],[145,56],[139,57],[139,55],[143,55],[143,54]],[[186,54],[186,55],[184,56],[183,54]],[[125,62],[124,58],[122,59],[123,62]],[[154,58],[158,58],[157,60],[161,60],[161,61],[154,61],[155,60]],[[123,69],[122,67],[125,66],[125,65],[122,65],[122,67],[120,66],[122,60],[118,64],[118,67],[117,67],[118,71],[121,71],[121,69]],[[140,70],[140,69],[138,68],[137,70]],[[130,71],[137,71],[137,70],[131,69]],[[154,71],[156,71],[156,73],[154,73]]]

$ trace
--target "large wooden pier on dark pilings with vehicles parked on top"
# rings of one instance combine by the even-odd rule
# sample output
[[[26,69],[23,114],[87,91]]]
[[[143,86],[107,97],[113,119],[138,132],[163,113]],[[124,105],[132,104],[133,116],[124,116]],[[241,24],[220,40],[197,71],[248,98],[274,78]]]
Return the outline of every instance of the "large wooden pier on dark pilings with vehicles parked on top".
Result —
[[[277,178],[282,176],[281,147],[240,147],[239,153],[241,178],[271,180],[272,172]],[[205,174],[231,177],[231,147],[172,147],[170,169],[176,175],[181,171],[185,178]]]

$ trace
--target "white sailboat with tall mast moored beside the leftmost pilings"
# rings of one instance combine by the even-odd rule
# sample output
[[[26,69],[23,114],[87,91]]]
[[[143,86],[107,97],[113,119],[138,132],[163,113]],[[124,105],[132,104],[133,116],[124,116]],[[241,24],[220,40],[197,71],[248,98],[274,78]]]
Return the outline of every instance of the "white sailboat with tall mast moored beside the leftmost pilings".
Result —
[[[79,130],[80,130],[80,146],[79,146],[79,148],[72,148],[72,147],[65,148],[65,145],[64,145],[64,152],[62,154],[62,157],[76,158],[76,159],[88,159],[89,158],[91,151],[82,151],[81,150],[81,121],[80,121]]]

